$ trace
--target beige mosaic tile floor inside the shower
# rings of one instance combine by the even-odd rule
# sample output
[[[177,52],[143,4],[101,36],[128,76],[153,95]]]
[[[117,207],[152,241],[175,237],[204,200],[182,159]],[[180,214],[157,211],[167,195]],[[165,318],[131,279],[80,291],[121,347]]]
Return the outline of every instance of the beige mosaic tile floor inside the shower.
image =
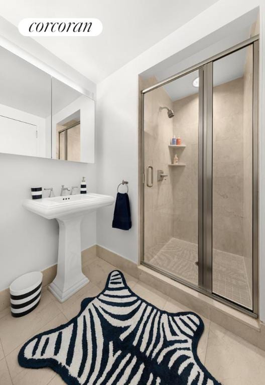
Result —
[[[198,245],[171,238],[149,251],[150,264],[198,285]],[[244,258],[213,249],[213,292],[251,309]]]

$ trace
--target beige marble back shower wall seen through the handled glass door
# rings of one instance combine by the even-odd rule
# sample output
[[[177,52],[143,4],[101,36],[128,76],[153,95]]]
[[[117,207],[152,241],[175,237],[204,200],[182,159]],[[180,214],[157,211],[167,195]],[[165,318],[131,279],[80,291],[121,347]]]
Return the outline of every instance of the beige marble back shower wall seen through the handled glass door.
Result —
[[[173,134],[186,148],[172,149],[185,167],[171,167],[173,187],[173,237],[198,243],[198,94],[173,103]]]

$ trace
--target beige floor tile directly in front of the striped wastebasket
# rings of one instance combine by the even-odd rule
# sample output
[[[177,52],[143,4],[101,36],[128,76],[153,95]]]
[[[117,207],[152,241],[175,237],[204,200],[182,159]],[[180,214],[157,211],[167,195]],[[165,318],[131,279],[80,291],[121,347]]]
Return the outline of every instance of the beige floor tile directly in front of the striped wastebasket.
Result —
[[[60,313],[50,293],[43,292],[39,306],[24,317],[14,318],[11,314],[0,319],[0,339],[5,355],[14,350],[23,341],[35,334],[40,327]]]

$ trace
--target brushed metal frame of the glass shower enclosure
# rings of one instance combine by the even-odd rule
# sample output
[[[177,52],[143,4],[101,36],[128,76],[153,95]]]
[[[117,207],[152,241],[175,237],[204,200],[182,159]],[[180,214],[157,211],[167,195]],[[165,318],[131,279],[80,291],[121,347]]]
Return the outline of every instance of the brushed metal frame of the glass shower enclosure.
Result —
[[[213,62],[244,47],[253,47],[253,121],[252,121],[252,311],[212,292],[212,90]],[[140,196],[141,196],[141,263],[165,276],[174,279],[211,298],[225,303],[254,318],[258,316],[258,50],[259,36],[245,40],[217,55],[210,57],[184,71],[177,73],[151,87],[139,91],[139,133],[140,133]],[[193,71],[199,71],[199,158],[198,158],[198,286],[189,283],[164,269],[158,269],[144,261],[144,95],[161,86],[181,78]]]

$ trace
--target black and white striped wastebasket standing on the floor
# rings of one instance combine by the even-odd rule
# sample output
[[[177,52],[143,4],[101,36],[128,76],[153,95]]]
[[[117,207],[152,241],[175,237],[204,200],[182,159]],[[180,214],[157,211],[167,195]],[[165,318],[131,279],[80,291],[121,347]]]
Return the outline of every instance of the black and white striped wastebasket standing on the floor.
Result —
[[[41,299],[42,273],[33,271],[15,279],[10,285],[11,314],[22,317],[34,310]]]

